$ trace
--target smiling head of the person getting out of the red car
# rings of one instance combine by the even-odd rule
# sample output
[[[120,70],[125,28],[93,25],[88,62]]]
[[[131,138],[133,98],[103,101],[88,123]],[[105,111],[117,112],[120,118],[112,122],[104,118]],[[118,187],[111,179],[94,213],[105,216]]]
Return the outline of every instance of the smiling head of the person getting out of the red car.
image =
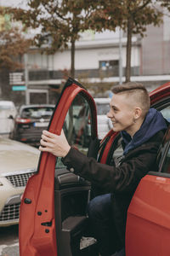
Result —
[[[139,130],[150,109],[147,90],[142,84],[136,84],[136,89],[131,89],[133,86],[133,83],[128,83],[113,88],[111,108],[107,113],[113,124],[113,130],[127,131],[131,137]]]

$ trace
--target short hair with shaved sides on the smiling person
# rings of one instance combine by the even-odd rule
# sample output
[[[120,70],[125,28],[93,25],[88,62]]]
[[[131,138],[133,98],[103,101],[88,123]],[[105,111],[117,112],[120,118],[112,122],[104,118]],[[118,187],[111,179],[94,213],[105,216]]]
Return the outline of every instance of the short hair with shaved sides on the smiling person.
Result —
[[[139,104],[142,109],[143,116],[148,113],[150,109],[150,96],[144,84],[129,82],[125,84],[116,85],[112,88],[114,94],[126,94],[128,97],[132,98],[135,103]]]

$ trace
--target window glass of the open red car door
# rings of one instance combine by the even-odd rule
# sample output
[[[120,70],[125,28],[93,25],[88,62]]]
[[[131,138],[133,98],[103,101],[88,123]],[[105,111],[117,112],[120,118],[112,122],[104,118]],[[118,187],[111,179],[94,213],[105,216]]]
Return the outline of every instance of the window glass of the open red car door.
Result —
[[[91,137],[91,114],[88,102],[81,95],[77,95],[65,117],[63,130],[71,146],[88,154]],[[64,167],[61,159],[57,159],[56,168]]]

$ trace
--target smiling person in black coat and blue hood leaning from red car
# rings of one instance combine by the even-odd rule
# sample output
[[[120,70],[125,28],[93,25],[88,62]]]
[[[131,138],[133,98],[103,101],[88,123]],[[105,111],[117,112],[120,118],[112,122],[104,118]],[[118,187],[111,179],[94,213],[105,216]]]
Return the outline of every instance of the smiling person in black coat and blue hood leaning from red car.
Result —
[[[41,151],[63,158],[63,163],[108,194],[99,195],[88,205],[88,217],[102,256],[125,255],[127,207],[139,181],[156,170],[156,155],[166,121],[150,108],[150,97],[143,84],[127,83],[113,88],[107,116],[113,131],[121,131],[123,156],[117,166],[98,163],[72,148],[65,138],[42,132]]]

